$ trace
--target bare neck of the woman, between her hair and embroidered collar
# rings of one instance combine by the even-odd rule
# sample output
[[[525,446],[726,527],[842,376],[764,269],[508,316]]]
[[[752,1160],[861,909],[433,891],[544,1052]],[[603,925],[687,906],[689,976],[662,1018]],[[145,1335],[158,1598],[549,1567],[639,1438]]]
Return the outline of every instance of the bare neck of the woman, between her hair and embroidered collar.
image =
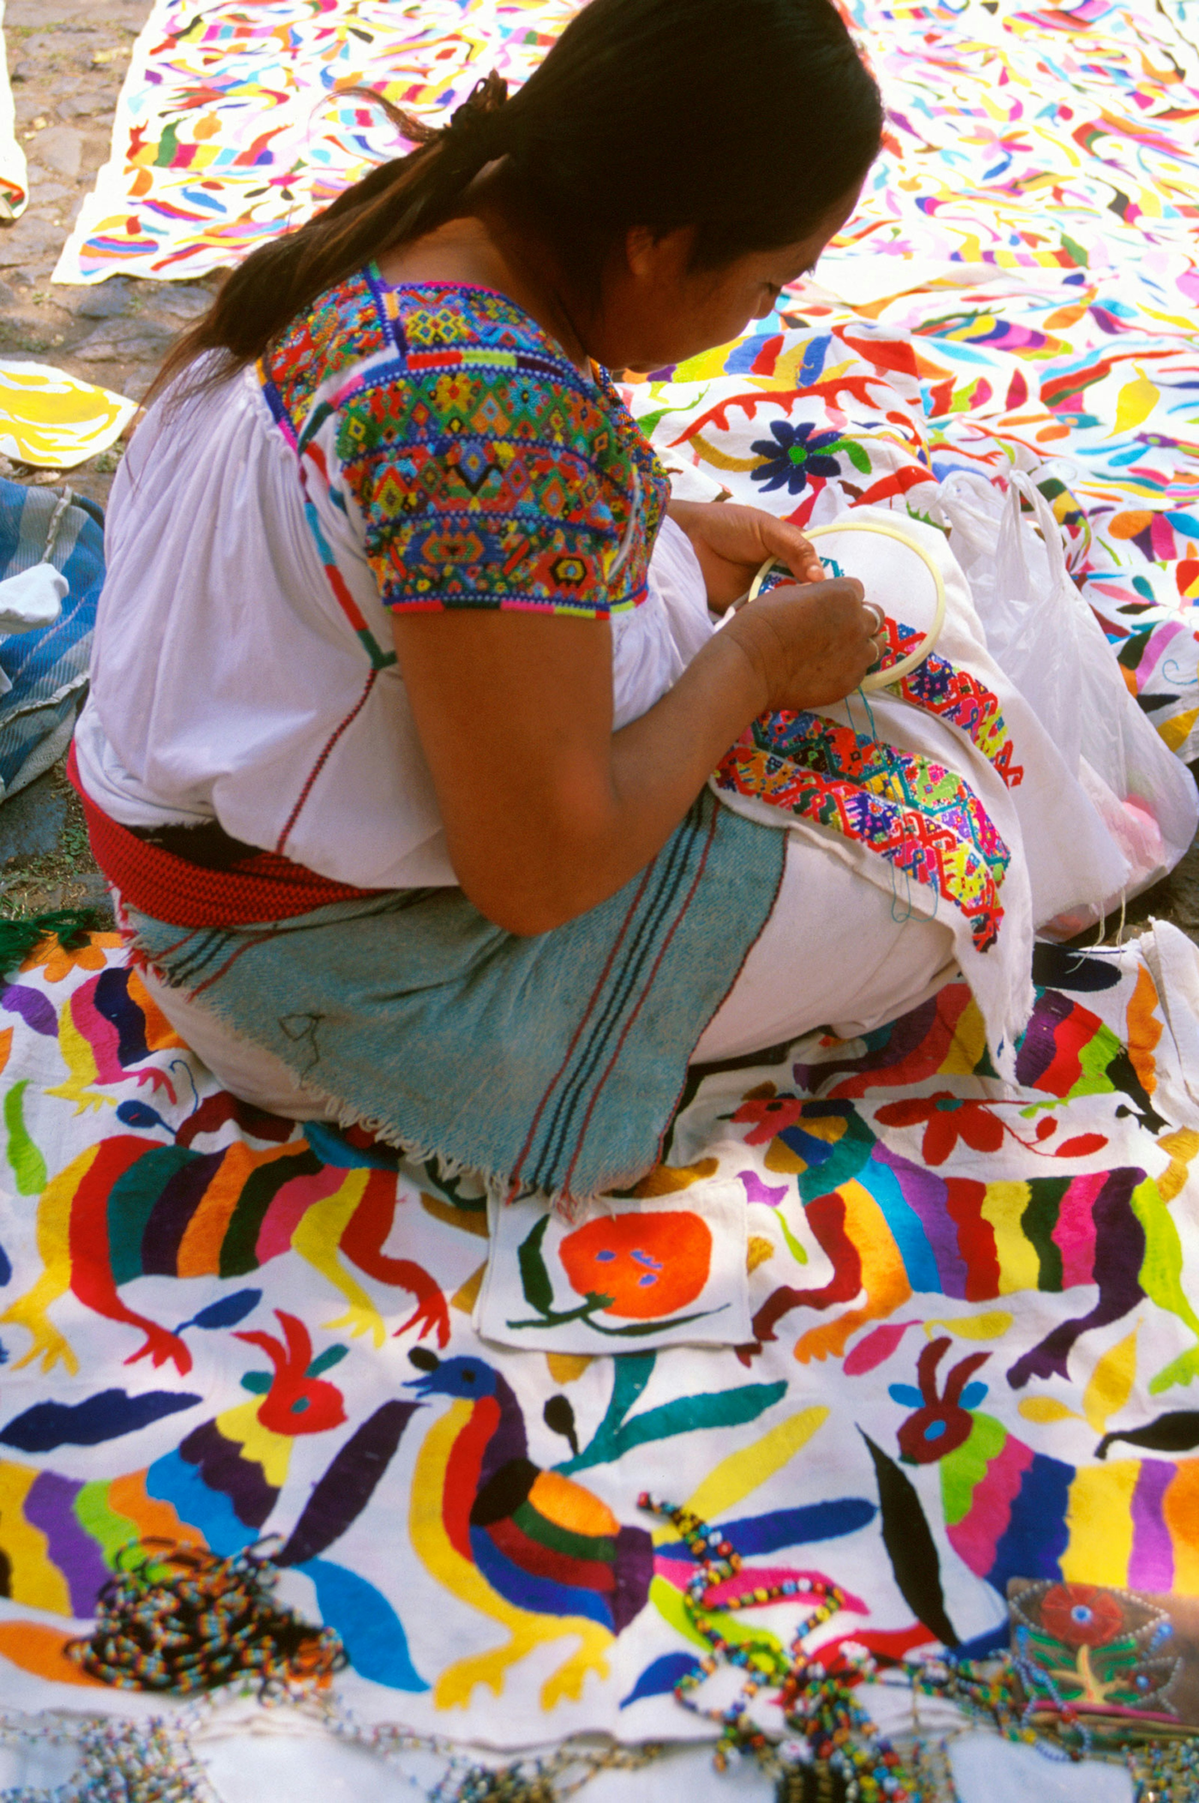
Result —
[[[575,319],[581,303],[555,251],[521,218],[501,168],[485,169],[458,218],[379,258],[386,281],[465,281],[496,288],[523,307],[584,375],[591,359]]]

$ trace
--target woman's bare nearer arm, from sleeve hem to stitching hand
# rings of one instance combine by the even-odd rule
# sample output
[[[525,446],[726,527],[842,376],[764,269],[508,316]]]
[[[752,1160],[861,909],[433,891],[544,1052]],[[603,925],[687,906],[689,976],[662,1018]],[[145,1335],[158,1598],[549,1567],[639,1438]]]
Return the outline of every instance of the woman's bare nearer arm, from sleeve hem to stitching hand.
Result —
[[[480,912],[548,932],[660,851],[745,727],[849,694],[878,656],[862,584],[743,608],[647,714],[611,730],[600,620],[462,609],[393,617],[449,856]]]

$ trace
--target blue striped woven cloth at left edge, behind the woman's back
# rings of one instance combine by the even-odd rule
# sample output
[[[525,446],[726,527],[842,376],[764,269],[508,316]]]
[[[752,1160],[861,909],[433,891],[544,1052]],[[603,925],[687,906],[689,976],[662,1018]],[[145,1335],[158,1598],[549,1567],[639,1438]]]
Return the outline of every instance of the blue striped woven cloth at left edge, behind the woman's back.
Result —
[[[52,489],[0,480],[0,581],[45,559],[58,499]],[[70,584],[63,611],[52,626],[0,640],[0,669],[13,683],[0,696],[0,799],[40,775],[70,739],[105,581],[103,528],[94,501],[72,499],[49,557]]]

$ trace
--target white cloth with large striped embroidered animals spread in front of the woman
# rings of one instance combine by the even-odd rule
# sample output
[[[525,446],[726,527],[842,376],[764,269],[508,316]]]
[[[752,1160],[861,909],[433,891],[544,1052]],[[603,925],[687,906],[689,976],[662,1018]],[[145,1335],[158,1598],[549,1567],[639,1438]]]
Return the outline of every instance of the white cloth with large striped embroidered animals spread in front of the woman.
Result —
[[[267,1547],[359,1720],[694,1738],[694,1533],[645,1493],[736,1549],[730,1597],[772,1590],[752,1621],[709,1592],[730,1644],[784,1644],[815,1590],[828,1661],[984,1653],[1028,1579],[1069,1662],[1093,1587],[1199,1596],[1199,952],[1159,925],[1033,974],[1015,1085],[963,984],[696,1078],[635,1212],[505,1249],[530,1316],[620,1349],[572,1354],[474,1332],[467,1179],[234,1102],[115,936],[43,941],[0,990],[4,1700],[204,1689],[204,1612],[97,1614],[139,1560]],[[730,1185],[748,1338],[642,1347]]]

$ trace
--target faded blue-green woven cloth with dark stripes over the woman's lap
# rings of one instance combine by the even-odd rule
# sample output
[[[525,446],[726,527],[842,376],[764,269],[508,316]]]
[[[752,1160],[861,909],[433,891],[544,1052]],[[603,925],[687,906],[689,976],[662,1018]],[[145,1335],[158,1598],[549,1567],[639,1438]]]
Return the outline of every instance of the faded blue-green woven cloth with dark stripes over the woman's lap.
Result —
[[[532,939],[460,889],[188,932],[128,909],[168,984],[267,1048],[343,1125],[501,1195],[629,1188],[703,1028],[766,925],[786,833],[703,793],[653,864]]]

